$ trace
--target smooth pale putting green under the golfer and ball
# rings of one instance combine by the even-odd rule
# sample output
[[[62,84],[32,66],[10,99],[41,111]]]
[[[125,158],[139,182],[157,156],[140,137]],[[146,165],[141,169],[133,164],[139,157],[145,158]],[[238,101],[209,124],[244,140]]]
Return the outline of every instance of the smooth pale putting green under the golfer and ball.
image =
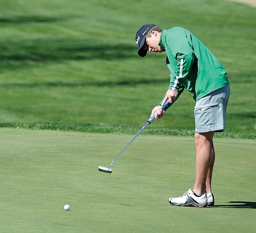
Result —
[[[97,167],[131,135],[0,128],[0,136],[1,232],[255,231],[255,140],[215,139],[215,207],[182,208],[168,198],[193,186],[193,138],[140,135],[106,174]]]

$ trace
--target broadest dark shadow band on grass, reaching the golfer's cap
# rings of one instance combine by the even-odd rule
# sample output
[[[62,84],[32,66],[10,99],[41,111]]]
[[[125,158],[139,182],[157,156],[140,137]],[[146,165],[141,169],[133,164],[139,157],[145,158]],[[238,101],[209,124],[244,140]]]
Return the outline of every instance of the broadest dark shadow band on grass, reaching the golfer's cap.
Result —
[[[95,39],[27,39],[0,40],[0,64],[19,68],[67,60],[117,60],[134,57],[136,46]],[[34,65],[35,65],[34,64]]]

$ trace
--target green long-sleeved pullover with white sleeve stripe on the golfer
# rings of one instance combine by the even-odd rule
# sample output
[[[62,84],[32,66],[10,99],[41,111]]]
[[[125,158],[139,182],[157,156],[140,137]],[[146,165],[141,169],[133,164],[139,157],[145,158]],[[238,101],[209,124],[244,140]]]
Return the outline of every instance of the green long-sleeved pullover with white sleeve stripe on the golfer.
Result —
[[[169,89],[179,95],[185,88],[193,93],[196,101],[229,84],[227,72],[218,59],[188,30],[182,27],[164,29],[158,44],[167,55]]]

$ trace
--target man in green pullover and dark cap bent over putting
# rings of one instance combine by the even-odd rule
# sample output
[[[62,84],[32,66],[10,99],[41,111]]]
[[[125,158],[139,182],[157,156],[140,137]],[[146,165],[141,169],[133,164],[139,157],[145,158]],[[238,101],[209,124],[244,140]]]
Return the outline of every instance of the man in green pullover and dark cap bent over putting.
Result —
[[[166,52],[166,65],[170,70],[170,85],[158,106],[152,110],[156,119],[164,116],[165,110],[186,89],[196,101],[195,144],[196,180],[193,189],[181,197],[169,199],[176,206],[205,207],[214,205],[211,180],[215,160],[212,138],[215,132],[224,132],[225,115],[230,93],[226,70],[191,32],[182,27],[162,30],[154,24],[143,25],[136,33],[138,55],[147,52]],[[170,104],[162,110],[161,106]],[[175,120],[175,119],[174,119]],[[178,119],[177,119],[178,120]]]

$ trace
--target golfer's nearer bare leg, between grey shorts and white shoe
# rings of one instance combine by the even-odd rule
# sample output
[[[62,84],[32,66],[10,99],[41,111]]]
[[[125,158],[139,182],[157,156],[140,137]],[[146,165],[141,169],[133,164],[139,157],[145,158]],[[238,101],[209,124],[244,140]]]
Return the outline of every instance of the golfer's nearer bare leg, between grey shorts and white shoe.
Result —
[[[195,133],[196,143],[196,181],[193,188],[198,196],[206,192],[206,178],[212,163],[212,138],[214,132]]]

